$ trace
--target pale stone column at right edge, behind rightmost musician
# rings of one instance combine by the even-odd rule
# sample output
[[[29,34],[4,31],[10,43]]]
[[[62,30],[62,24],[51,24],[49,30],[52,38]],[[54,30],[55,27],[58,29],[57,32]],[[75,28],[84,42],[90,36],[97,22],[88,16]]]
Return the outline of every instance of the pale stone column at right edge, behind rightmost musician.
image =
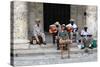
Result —
[[[92,33],[93,37],[97,38],[97,7],[87,6],[86,13],[86,26],[88,27],[88,31]]]

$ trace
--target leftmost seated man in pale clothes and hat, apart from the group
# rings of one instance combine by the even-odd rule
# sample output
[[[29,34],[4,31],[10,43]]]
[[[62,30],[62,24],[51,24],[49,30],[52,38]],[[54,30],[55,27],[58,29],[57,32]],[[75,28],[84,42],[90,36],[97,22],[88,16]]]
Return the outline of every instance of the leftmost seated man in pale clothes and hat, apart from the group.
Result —
[[[36,19],[35,20],[35,22],[36,22],[36,24],[34,25],[34,30],[33,30],[33,33],[34,33],[34,36],[35,36],[35,38],[36,38],[36,40],[37,40],[37,42],[38,43],[40,43],[40,39],[41,39],[41,37],[42,37],[42,39],[43,39],[43,44],[45,44],[46,45],[46,42],[45,42],[45,35],[44,35],[44,33],[41,31],[41,28],[40,28],[40,19]],[[41,36],[41,37],[40,37]],[[40,38],[40,39],[39,39]]]

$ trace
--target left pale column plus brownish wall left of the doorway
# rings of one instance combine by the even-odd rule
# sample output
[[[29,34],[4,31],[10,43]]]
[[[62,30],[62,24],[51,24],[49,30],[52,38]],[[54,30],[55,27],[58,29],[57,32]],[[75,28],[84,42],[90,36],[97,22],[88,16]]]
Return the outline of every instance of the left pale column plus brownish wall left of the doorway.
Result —
[[[29,39],[33,34],[35,19],[40,19],[41,29],[43,30],[43,4],[25,1],[13,1],[11,8],[11,27],[13,48],[28,48]],[[12,21],[13,20],[13,21]]]

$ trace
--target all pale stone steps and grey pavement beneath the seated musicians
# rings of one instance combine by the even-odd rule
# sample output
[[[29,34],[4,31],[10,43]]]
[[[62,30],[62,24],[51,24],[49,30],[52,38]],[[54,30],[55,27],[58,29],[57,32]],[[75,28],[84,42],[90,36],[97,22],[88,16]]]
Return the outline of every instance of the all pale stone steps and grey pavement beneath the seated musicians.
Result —
[[[47,45],[30,45],[28,49],[14,50],[15,66],[31,66],[44,64],[63,64],[73,62],[97,61],[97,49],[91,50],[90,54],[84,53],[77,47],[77,44],[71,45],[70,58],[67,51],[64,53],[64,59],[61,59],[60,50],[56,45],[48,43]]]

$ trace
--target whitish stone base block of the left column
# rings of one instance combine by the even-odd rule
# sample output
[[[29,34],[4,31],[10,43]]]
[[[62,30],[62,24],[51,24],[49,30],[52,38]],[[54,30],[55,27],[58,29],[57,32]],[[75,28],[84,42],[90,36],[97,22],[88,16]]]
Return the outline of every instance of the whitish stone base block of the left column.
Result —
[[[27,39],[16,39],[13,43],[13,49],[28,49],[29,40]]]

